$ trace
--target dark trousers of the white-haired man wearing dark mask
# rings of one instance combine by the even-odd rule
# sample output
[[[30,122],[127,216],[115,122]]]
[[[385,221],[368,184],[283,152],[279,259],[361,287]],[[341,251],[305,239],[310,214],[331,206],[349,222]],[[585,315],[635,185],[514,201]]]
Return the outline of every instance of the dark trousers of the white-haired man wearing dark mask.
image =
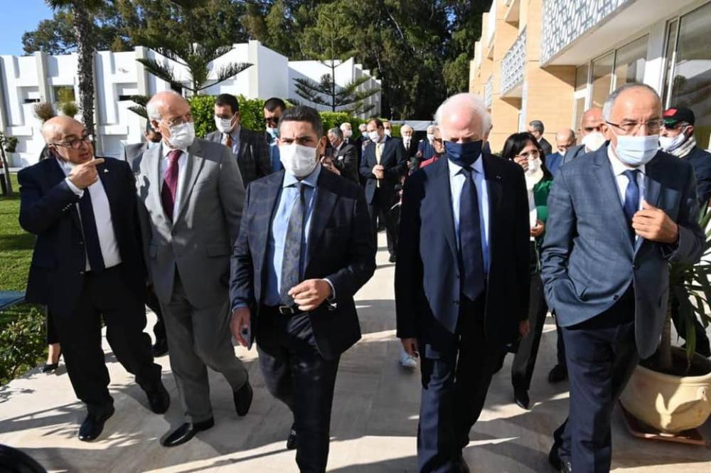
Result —
[[[484,338],[485,297],[461,297],[459,326],[447,351],[420,341],[422,400],[417,432],[420,473],[456,472],[456,460],[469,444],[469,430],[486,400],[493,370],[503,346]]]

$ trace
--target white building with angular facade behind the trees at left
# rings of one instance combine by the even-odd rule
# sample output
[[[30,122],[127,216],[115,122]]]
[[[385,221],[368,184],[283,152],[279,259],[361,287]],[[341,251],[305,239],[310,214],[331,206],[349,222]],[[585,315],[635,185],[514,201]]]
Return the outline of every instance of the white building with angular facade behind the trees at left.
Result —
[[[145,120],[129,110],[136,105],[132,95],[153,95],[169,90],[164,80],[148,73],[138,58],[162,56],[138,46],[134,51],[112,53],[100,51],[95,55],[95,132],[97,154],[119,157],[126,143],[137,143],[143,138]],[[252,66],[225,80],[211,85],[203,95],[230,93],[244,95],[248,99],[281,97],[299,99],[305,105],[319,110],[326,107],[301,100],[295,93],[296,78],[309,78],[318,82],[321,76],[330,73],[319,61],[289,61],[288,58],[265,48],[259,41],[235,44],[232,50],[210,64],[217,70],[225,63],[249,63]],[[173,63],[179,80],[188,83],[188,71]],[[44,146],[40,134],[41,122],[34,115],[38,102],[58,102],[58,91],[72,87],[78,97],[77,56],[47,55],[35,53],[29,56],[0,55],[0,129],[16,137],[18,146],[12,156],[11,166],[23,167],[37,162]],[[336,67],[336,84],[346,85],[353,80],[370,78],[360,88],[380,88],[380,80],[370,77],[370,71],[351,58]],[[368,98],[373,110],[380,112],[380,92]]]

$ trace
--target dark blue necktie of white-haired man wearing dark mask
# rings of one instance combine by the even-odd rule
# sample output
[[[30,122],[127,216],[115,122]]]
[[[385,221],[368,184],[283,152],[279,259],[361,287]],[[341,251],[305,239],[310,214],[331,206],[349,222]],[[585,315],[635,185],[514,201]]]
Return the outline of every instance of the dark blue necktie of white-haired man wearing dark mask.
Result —
[[[466,166],[461,172],[464,174],[464,187],[459,196],[459,255],[464,273],[461,292],[474,301],[484,288],[479,196],[476,194],[473,169]]]

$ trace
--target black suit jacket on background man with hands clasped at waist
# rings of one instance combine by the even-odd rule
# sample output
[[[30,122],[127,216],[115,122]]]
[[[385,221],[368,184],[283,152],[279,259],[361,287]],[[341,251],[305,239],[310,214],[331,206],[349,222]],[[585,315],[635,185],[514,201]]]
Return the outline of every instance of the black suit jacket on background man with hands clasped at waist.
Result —
[[[360,176],[365,179],[365,198],[368,203],[373,203],[375,196],[376,182],[373,176],[373,167],[378,164],[375,159],[375,143],[371,142],[365,147],[363,159],[360,160]],[[380,164],[385,168],[385,179],[380,181],[380,191],[387,196],[395,197],[395,186],[400,184],[400,178],[407,172],[407,160],[405,159],[405,148],[399,139],[386,137],[383,155],[380,156]]]

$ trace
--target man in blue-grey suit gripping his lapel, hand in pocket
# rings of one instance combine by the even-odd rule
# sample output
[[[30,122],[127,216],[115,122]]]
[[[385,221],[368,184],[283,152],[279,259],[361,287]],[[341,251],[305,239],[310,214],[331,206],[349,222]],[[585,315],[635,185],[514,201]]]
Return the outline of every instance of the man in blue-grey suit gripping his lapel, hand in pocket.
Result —
[[[693,167],[658,151],[656,91],[623,85],[603,110],[609,144],[558,171],[542,248],[570,380],[549,456],[561,472],[609,472],[612,410],[659,344],[669,262],[693,264],[704,249]]]

